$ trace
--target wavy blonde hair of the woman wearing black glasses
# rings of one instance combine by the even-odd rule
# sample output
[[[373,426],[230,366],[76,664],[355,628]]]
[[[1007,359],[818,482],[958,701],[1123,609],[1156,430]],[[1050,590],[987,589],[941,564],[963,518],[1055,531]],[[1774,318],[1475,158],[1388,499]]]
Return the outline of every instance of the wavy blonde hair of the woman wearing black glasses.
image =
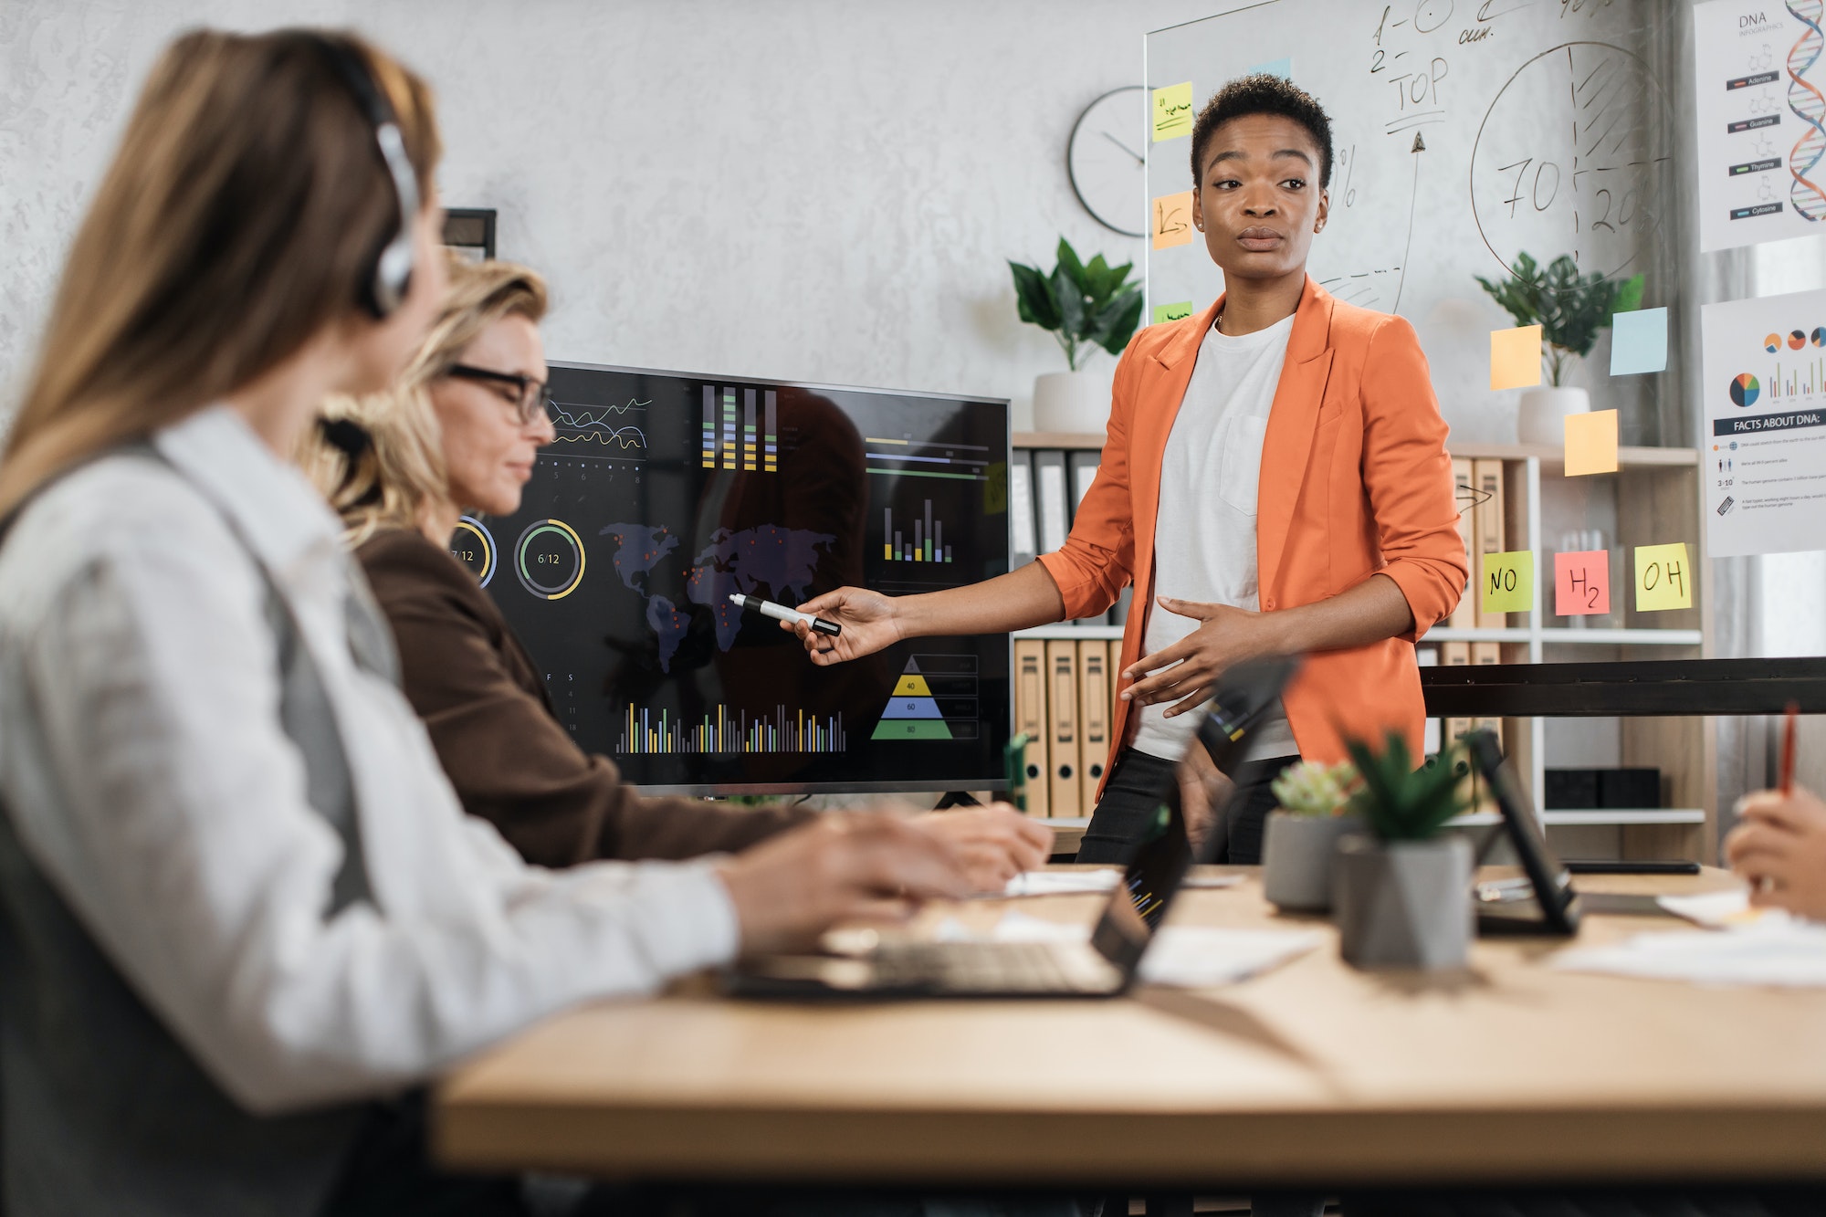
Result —
[[[367,433],[367,444],[351,453],[314,431],[299,453],[305,473],[343,517],[349,545],[362,545],[376,528],[418,528],[429,510],[449,506],[431,382],[504,316],[535,323],[546,316],[546,281],[539,272],[511,261],[451,258],[444,309],[400,380],[385,393],[325,402],[325,420],[349,420]]]

